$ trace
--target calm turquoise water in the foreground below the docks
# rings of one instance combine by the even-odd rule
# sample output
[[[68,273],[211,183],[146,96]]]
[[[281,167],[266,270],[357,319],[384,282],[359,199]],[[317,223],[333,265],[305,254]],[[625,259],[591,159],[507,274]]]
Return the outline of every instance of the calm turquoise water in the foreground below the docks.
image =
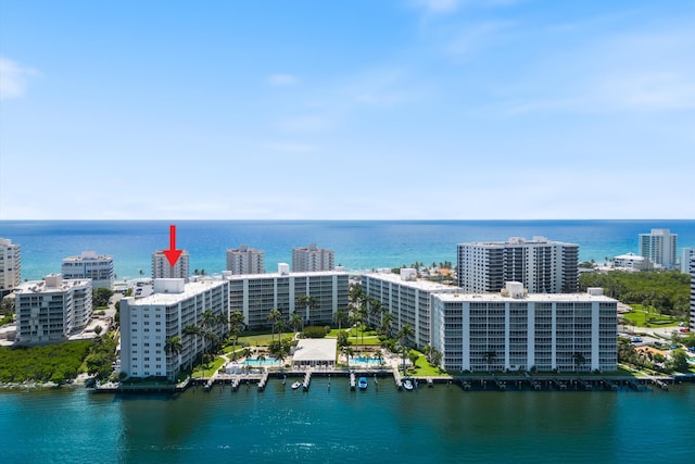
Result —
[[[0,392],[3,463],[691,463],[695,386],[668,392]],[[372,388],[374,387],[374,388]]]

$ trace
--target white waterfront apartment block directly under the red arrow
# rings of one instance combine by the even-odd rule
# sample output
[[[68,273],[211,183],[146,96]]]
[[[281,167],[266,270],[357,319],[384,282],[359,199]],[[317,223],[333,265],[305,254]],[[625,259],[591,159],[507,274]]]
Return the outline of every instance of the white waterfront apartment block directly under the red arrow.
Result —
[[[206,279],[187,284],[182,278],[155,279],[149,297],[121,300],[121,371],[130,377],[173,378],[182,367],[210,347],[211,338],[187,331],[203,327],[203,314],[229,313],[229,283]],[[206,327],[218,337],[228,333],[227,324]],[[180,337],[181,350],[167,350],[167,341]]]

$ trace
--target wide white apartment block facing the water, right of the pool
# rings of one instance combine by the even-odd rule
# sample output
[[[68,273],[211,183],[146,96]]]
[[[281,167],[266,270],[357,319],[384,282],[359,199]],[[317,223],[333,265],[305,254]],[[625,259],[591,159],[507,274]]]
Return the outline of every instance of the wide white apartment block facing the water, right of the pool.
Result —
[[[616,371],[618,301],[603,289],[432,294],[432,348],[455,371]]]

